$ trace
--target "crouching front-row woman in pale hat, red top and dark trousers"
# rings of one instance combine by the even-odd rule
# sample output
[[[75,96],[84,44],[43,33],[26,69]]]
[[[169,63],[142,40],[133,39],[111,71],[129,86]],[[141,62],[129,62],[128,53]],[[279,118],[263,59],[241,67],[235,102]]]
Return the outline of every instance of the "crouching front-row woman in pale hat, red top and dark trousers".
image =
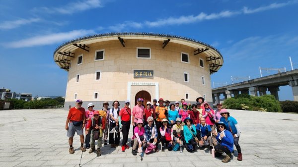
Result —
[[[173,129],[169,126],[166,118],[162,119],[162,126],[159,128],[161,134],[161,152],[164,152],[164,144],[168,145],[168,150],[171,151],[173,148]]]

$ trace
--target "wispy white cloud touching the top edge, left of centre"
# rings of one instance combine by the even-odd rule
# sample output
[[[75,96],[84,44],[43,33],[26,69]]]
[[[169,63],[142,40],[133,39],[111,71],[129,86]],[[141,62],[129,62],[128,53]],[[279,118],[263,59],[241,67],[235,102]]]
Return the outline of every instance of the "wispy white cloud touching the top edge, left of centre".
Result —
[[[72,14],[78,11],[84,11],[92,8],[103,7],[101,0],[77,0],[65,4],[62,7],[41,7],[34,8],[33,11],[46,12],[46,13],[60,13],[60,14]]]

